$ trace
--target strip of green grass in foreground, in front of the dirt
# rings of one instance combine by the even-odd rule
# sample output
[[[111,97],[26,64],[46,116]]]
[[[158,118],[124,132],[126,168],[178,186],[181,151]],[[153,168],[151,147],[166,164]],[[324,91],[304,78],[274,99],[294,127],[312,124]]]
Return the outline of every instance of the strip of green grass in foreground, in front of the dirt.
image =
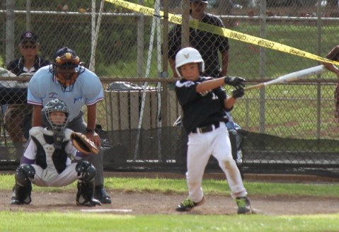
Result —
[[[111,215],[0,212],[1,231],[338,231],[339,214],[309,216]]]

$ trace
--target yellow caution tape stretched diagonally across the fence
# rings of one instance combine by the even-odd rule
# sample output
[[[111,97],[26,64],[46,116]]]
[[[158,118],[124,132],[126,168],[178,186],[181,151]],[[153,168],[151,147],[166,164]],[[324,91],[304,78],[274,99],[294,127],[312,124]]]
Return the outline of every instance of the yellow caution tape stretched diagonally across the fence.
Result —
[[[143,13],[143,14],[148,15],[148,16],[158,16],[158,17],[163,18],[163,11],[159,11],[159,15],[155,15],[155,11],[154,11],[153,8],[141,6],[141,5],[138,5],[138,4],[133,4],[131,2],[122,1],[122,0],[105,0],[105,1],[108,1],[111,4],[115,4],[117,6],[121,6],[122,8],[127,8],[131,11]],[[174,15],[173,13],[168,13],[168,21],[171,22],[171,23],[181,24],[182,17]],[[316,54],[312,54],[310,52],[305,52],[303,50],[299,50],[299,49],[294,48],[294,47],[289,47],[289,46],[283,45],[279,42],[273,42],[273,41],[270,41],[270,40],[262,39],[260,37],[255,37],[253,35],[247,35],[247,34],[244,34],[244,33],[236,32],[234,30],[229,30],[227,28],[221,28],[221,27],[211,25],[211,24],[208,24],[208,23],[202,23],[202,22],[195,20],[195,19],[190,20],[190,27],[195,28],[195,29],[199,29],[199,30],[204,30],[204,31],[207,31],[209,33],[214,33],[216,35],[228,37],[230,39],[247,42],[247,43],[250,43],[252,45],[258,45],[260,47],[266,47],[266,48],[269,48],[269,49],[272,49],[272,50],[277,50],[277,51],[280,51],[280,52],[286,52],[288,54],[294,54],[294,55],[299,56],[299,57],[305,57],[305,58],[308,58],[308,59],[317,60],[319,62],[328,62],[328,63],[331,63],[331,64],[338,64],[339,65],[339,62],[335,62],[331,59],[319,57]]]

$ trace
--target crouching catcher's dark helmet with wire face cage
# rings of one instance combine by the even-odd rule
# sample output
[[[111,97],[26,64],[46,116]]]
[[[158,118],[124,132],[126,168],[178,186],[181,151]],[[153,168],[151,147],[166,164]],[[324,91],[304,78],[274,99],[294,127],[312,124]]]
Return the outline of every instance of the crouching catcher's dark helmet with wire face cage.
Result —
[[[66,119],[63,124],[54,124],[50,119],[51,112],[64,112]],[[44,124],[47,128],[52,129],[53,132],[63,133],[64,129],[66,129],[67,124],[69,123],[69,108],[66,103],[62,100],[55,98],[54,100],[50,100],[44,108],[41,110],[41,120],[42,124]]]

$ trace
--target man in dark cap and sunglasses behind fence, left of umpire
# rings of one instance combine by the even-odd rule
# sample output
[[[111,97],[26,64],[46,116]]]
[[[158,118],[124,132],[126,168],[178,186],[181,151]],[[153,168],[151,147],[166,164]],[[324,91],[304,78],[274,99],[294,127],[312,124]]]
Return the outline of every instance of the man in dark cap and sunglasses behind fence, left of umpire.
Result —
[[[40,67],[50,64],[50,62],[38,56],[40,43],[39,37],[35,33],[25,31],[20,37],[18,47],[22,56],[9,62],[7,66],[7,69],[16,74],[16,76],[33,75]],[[5,112],[6,129],[16,148],[16,158],[20,158],[23,155],[23,141],[28,139],[30,129],[25,127],[24,118],[31,115],[32,110],[32,105],[11,104],[8,105]]]

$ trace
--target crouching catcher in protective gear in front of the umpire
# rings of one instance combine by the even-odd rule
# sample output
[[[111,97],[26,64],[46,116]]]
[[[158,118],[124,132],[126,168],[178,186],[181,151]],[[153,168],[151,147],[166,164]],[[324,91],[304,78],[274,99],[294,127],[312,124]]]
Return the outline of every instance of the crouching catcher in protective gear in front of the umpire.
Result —
[[[16,169],[11,204],[30,204],[32,182],[41,187],[62,187],[78,180],[76,204],[86,207],[100,205],[93,198],[96,168],[82,156],[98,153],[98,148],[84,134],[67,129],[69,109],[62,100],[54,99],[41,110],[47,127],[30,129],[30,143]],[[77,162],[71,162],[69,155]]]

